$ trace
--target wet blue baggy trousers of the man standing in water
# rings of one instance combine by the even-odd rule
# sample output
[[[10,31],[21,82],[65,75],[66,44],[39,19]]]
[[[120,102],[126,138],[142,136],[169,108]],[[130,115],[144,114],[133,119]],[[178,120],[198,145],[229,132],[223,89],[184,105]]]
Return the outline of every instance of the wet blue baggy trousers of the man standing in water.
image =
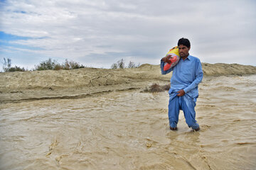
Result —
[[[178,114],[182,110],[186,123],[189,128],[196,130],[199,128],[198,123],[196,123],[196,98],[191,98],[187,94],[184,96],[176,96],[177,93],[171,93],[169,98],[169,125],[171,128],[176,128],[178,124]]]

